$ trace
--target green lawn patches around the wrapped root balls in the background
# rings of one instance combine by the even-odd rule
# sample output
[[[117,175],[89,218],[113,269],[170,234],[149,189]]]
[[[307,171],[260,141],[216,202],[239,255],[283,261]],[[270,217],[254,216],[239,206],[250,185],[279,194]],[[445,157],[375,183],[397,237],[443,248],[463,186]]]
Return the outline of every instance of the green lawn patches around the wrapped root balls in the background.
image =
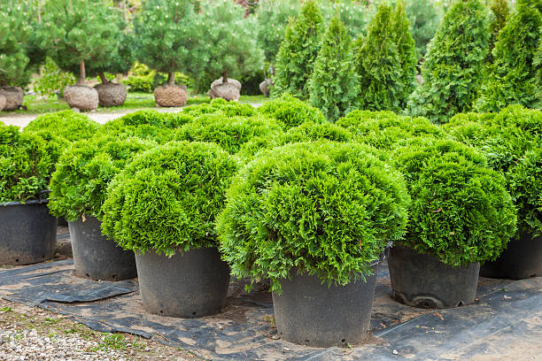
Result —
[[[209,96],[206,94],[199,94],[197,96],[189,96],[187,105],[208,103],[210,101]],[[267,101],[265,96],[241,96],[239,99],[241,103],[264,103]],[[27,106],[27,110],[13,111],[19,114],[42,114],[51,111],[64,111],[70,109],[64,100],[57,99],[56,97],[42,98],[41,96],[25,96],[23,103]],[[97,111],[113,112],[123,111],[130,109],[148,109],[155,108],[154,96],[148,93],[129,93],[126,102],[120,106],[112,106],[108,108],[98,107]]]

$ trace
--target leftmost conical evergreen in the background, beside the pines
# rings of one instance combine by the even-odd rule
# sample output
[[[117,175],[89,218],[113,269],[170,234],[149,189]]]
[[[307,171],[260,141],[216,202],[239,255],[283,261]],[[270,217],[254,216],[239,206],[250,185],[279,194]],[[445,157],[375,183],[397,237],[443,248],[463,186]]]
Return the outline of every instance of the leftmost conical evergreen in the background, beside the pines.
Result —
[[[290,21],[286,28],[276,56],[275,86],[271,96],[290,93],[299,99],[308,97],[308,80],[320,50],[322,23],[318,5],[314,0],[307,0],[298,19]]]

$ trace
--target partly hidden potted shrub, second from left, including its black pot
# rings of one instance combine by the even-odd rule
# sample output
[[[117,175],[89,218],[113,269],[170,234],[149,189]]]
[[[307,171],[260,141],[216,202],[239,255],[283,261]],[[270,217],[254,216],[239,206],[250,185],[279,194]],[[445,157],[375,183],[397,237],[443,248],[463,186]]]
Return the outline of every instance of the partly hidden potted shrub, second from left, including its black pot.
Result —
[[[52,214],[64,217],[72,237],[75,274],[92,280],[136,277],[133,252],[120,249],[101,233],[107,186],[137,152],[156,143],[129,134],[97,134],[75,142],[60,157],[50,180]]]

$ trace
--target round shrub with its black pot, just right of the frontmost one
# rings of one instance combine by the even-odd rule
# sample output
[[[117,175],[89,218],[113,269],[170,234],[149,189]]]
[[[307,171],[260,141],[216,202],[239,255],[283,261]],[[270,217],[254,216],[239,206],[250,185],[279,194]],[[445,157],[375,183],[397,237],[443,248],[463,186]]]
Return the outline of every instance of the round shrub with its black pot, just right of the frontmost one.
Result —
[[[393,296],[416,307],[473,303],[480,262],[498,257],[515,233],[504,177],[453,141],[415,140],[396,151],[394,163],[413,203],[388,260]]]

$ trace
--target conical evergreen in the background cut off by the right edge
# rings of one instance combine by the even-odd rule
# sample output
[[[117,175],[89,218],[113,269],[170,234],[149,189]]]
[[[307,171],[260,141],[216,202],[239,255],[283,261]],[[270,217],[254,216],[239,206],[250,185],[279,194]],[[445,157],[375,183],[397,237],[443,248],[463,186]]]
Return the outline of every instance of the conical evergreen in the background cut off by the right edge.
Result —
[[[542,108],[537,51],[542,0],[519,0],[517,12],[500,31],[487,81],[476,102],[478,111],[499,111],[509,104]]]

